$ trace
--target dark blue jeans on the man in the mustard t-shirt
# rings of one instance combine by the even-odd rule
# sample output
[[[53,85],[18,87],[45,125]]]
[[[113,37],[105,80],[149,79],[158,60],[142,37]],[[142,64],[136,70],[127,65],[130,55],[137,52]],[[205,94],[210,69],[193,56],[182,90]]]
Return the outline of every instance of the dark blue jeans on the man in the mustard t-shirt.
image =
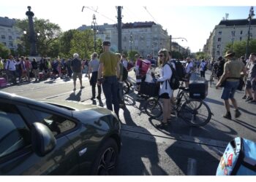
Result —
[[[113,111],[112,102],[114,105],[114,111],[119,117],[119,103],[118,103],[118,81],[116,76],[104,76],[102,81],[102,90],[106,98],[106,105],[110,111]]]

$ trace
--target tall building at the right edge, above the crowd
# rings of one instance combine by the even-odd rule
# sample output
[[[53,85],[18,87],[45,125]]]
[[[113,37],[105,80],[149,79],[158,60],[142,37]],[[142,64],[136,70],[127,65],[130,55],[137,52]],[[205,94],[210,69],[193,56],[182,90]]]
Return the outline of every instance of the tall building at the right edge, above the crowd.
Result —
[[[203,52],[211,55],[212,60],[217,60],[219,56],[225,54],[227,44],[235,41],[246,41],[248,39],[248,20],[222,20],[216,25],[214,31],[210,33]],[[250,38],[256,39],[256,20],[252,19],[250,28]]]

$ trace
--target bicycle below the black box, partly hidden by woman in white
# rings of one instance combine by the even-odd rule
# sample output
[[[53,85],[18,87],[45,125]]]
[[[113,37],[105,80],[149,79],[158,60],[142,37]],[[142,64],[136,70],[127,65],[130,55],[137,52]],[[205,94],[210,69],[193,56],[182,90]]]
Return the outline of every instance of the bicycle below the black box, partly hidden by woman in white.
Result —
[[[187,124],[193,127],[202,127],[211,120],[211,109],[203,99],[189,98],[189,88],[179,87],[178,94],[173,107],[177,116],[181,117]],[[151,118],[162,115],[162,103],[159,96],[148,98],[145,103],[145,111]]]

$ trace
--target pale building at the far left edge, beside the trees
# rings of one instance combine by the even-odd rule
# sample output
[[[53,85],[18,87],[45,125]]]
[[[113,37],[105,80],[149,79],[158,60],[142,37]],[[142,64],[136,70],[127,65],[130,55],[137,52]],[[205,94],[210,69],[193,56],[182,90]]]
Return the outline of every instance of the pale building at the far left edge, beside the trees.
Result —
[[[15,19],[0,17],[0,42],[10,50],[16,50],[20,32],[15,28]]]

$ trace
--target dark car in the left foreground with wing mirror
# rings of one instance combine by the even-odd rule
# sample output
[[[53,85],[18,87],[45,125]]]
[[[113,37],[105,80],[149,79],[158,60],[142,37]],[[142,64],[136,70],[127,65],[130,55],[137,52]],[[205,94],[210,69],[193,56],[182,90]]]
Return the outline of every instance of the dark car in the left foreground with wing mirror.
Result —
[[[0,91],[0,175],[114,175],[120,136],[106,108]]]

